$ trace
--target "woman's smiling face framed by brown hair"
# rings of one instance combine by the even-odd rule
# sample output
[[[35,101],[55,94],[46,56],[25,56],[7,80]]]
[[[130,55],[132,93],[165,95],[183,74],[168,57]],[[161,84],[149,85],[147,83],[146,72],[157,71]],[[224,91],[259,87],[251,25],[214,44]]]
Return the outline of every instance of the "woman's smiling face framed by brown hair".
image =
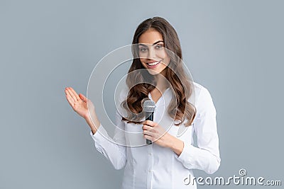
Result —
[[[170,63],[170,57],[165,52],[163,36],[157,30],[146,30],[138,38],[140,61],[152,75],[163,74]]]

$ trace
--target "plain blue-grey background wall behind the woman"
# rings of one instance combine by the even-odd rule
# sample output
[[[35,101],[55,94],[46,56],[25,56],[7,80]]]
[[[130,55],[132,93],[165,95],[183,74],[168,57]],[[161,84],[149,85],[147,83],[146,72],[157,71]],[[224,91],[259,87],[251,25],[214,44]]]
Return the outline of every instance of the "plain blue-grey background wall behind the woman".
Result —
[[[251,0],[1,0],[0,188],[118,188],[123,171],[96,151],[64,88],[85,94],[99,59],[129,45],[138,23],[153,16],[175,27],[193,79],[212,94],[222,158],[212,176],[246,168],[248,176],[284,182],[283,7]]]

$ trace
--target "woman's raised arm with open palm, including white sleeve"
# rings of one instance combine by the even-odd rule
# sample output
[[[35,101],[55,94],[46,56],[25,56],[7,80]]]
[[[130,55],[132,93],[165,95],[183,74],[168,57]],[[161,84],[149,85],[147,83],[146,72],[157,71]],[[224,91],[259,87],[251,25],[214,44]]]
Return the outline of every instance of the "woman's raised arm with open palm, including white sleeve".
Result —
[[[123,94],[121,93],[120,100],[123,99]],[[82,116],[91,128],[90,134],[92,139],[94,139],[96,149],[111,161],[114,168],[123,168],[126,164],[126,147],[119,145],[125,144],[124,122],[121,122],[119,113],[116,112],[116,130],[114,139],[111,139],[99,122],[92,101],[87,99],[82,93],[78,95],[72,87],[65,88],[65,95],[72,109]],[[94,122],[92,122],[90,116]]]

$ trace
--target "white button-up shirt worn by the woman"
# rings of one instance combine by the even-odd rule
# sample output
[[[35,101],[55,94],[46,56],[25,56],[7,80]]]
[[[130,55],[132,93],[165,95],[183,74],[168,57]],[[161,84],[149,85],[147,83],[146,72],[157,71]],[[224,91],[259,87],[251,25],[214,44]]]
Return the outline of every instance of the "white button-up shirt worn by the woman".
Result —
[[[188,184],[187,180],[193,179],[193,168],[209,174],[217,171],[221,159],[216,110],[207,88],[195,82],[193,84],[197,115],[192,125],[176,126],[168,115],[168,104],[173,96],[170,88],[157,101],[153,116],[153,122],[158,122],[169,134],[184,142],[180,156],[169,148],[160,147],[155,142],[151,145],[141,145],[146,144],[142,132],[143,125],[121,121],[121,115],[118,112],[116,112],[118,129],[113,138],[109,137],[102,124],[95,134],[90,132],[96,149],[109,159],[114,168],[124,168],[121,188],[197,188],[197,183],[190,181]],[[121,101],[126,99],[126,93],[121,96]],[[170,127],[164,125],[170,125]],[[180,132],[181,127],[183,132]],[[197,135],[197,147],[193,146],[194,132]]]

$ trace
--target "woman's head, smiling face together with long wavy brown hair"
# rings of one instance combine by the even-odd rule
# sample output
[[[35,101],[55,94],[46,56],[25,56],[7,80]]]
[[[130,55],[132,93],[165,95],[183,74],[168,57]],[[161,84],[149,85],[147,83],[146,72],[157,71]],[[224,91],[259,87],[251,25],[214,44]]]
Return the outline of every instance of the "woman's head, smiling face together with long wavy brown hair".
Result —
[[[132,113],[141,113],[141,102],[148,98],[148,93],[151,93],[157,101],[165,89],[172,87],[176,98],[173,98],[168,106],[170,118],[179,120],[178,125],[185,120],[187,120],[186,126],[192,125],[196,110],[188,98],[192,96],[194,86],[183,69],[180,40],[173,26],[164,18],[149,18],[138,25],[132,44],[138,44],[139,59],[133,59],[129,69],[126,79],[129,96],[122,106],[125,109],[129,108]],[[133,51],[135,55],[135,47]],[[138,71],[143,68],[146,68],[149,74]],[[138,73],[130,74],[132,71]],[[147,81],[151,81],[154,85]],[[132,120],[135,119],[141,120],[141,116],[130,114],[129,118],[122,118],[128,122],[133,122]]]

